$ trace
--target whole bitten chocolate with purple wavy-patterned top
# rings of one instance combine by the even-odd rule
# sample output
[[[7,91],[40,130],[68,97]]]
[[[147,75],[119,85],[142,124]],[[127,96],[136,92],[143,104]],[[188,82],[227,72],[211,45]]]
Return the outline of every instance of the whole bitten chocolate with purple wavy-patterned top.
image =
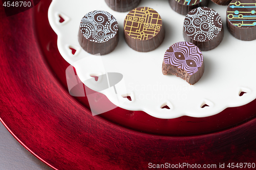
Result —
[[[162,72],[163,75],[176,75],[189,84],[195,84],[204,73],[202,52],[193,43],[177,42],[166,50]]]

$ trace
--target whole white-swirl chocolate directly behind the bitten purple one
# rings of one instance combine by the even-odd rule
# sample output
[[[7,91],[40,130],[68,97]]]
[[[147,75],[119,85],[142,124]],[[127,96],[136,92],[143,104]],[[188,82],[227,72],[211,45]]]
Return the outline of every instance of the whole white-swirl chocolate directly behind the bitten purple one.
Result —
[[[183,37],[201,51],[217,47],[224,36],[220,15],[207,7],[198,7],[188,12],[183,24]]]

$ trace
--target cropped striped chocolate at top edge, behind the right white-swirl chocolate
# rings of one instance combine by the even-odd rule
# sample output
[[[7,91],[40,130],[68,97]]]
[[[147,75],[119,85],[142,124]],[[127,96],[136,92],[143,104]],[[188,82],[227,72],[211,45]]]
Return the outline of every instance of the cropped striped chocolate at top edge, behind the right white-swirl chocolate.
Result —
[[[208,0],[169,0],[170,7],[182,15],[197,7],[206,7],[208,2]]]

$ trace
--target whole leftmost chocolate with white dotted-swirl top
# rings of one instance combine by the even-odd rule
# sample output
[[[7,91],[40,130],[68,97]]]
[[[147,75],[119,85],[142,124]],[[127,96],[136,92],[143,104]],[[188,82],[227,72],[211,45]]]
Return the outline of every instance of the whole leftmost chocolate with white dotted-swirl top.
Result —
[[[109,54],[118,43],[116,18],[105,11],[89,12],[80,22],[78,40],[83,50],[90,54]]]

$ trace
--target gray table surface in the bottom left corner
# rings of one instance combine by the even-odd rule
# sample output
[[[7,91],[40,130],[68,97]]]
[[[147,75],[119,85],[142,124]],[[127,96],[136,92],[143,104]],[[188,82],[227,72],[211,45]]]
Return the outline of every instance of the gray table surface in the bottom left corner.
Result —
[[[52,170],[27,151],[0,122],[0,170]]]

